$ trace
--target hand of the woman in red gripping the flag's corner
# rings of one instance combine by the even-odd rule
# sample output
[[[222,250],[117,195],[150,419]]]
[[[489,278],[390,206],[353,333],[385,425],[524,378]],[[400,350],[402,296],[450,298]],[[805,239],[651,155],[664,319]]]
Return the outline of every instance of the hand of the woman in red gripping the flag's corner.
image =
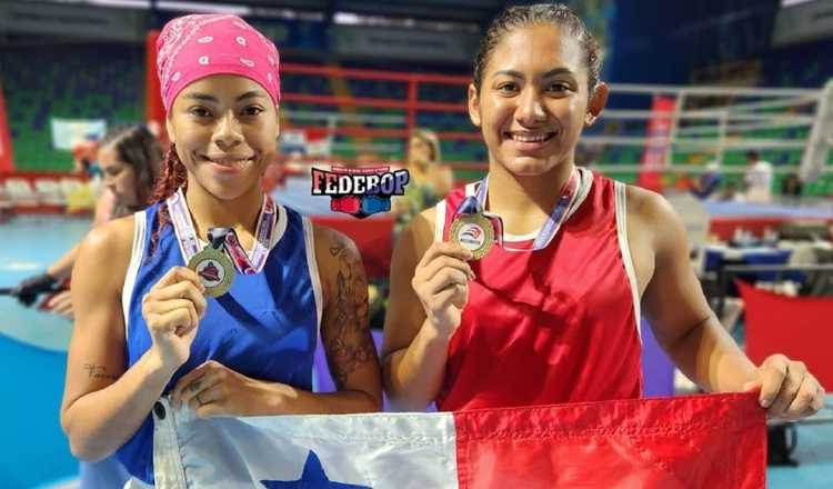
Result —
[[[803,362],[773,355],[761,363],[744,391],[761,390],[759,400],[770,418],[796,420],[824,406],[824,389]]]

